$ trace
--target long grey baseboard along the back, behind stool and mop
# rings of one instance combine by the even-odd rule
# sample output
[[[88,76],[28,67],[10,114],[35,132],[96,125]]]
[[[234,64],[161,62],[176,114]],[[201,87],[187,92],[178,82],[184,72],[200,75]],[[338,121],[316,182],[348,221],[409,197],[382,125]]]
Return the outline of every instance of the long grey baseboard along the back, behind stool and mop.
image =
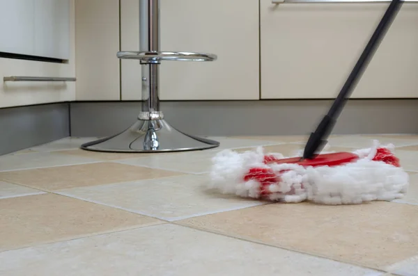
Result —
[[[296,135],[313,131],[328,100],[162,102],[165,119],[199,136]],[[72,136],[111,136],[135,122],[139,102],[70,103]],[[335,134],[418,133],[418,99],[350,100]]]

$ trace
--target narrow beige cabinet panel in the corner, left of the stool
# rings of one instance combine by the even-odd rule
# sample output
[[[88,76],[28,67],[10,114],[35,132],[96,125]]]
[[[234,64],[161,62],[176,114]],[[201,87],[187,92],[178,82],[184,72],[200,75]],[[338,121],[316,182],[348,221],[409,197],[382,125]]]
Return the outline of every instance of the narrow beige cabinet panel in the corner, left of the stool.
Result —
[[[77,100],[119,100],[119,1],[75,0]]]

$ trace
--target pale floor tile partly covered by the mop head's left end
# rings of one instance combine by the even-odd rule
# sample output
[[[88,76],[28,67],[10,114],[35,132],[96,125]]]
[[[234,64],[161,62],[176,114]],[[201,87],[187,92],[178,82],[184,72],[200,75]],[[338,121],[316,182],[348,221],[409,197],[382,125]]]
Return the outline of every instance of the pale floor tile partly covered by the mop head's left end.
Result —
[[[134,213],[180,220],[263,204],[206,190],[208,176],[184,175],[104,186],[61,190],[61,195],[79,198]]]

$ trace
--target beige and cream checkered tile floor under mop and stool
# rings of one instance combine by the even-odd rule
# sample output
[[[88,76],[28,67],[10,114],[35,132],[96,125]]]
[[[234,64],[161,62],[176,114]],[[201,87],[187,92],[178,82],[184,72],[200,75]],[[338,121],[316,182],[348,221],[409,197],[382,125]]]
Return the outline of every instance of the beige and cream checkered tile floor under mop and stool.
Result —
[[[401,200],[270,204],[204,188],[220,149],[294,154],[303,136],[216,137],[221,147],[107,154],[66,138],[0,156],[0,275],[418,276],[418,136],[333,136],[330,150],[393,143]]]

